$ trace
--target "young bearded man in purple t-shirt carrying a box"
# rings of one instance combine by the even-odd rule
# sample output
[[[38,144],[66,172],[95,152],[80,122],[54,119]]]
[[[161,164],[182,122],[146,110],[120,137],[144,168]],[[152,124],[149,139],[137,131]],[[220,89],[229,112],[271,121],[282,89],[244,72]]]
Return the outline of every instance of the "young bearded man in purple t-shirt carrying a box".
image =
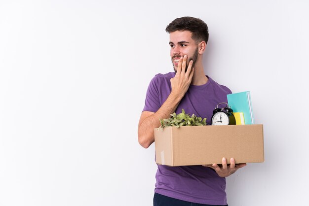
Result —
[[[148,87],[145,107],[138,127],[139,143],[148,148],[154,142],[154,128],[159,118],[169,118],[185,109],[186,113],[207,118],[210,125],[213,109],[227,102],[231,90],[205,75],[202,58],[208,41],[208,27],[200,19],[182,17],[172,21],[170,56],[174,72],[156,74]],[[205,148],[207,149],[207,148]],[[231,164],[222,158],[222,166],[168,167],[158,165],[154,206],[227,205],[225,177],[246,164]]]

